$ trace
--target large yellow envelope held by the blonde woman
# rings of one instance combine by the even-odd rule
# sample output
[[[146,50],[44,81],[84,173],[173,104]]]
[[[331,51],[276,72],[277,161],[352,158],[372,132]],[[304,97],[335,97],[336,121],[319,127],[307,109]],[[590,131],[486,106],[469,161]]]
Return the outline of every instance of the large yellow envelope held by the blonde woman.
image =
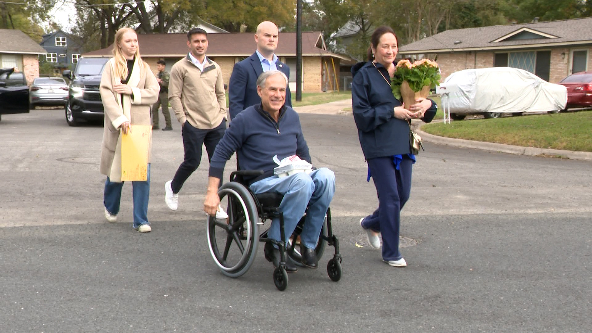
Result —
[[[152,126],[132,125],[121,133],[121,181],[146,181]]]

